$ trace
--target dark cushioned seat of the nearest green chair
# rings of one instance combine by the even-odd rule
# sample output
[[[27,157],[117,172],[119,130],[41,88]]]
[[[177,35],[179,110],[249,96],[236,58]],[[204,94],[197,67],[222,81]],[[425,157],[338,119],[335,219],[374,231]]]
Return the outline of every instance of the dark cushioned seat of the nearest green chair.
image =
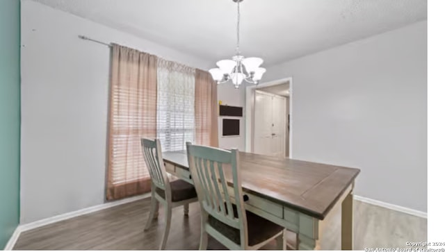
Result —
[[[237,213],[238,212],[236,210],[236,205],[234,205],[235,217],[238,217]],[[253,212],[249,212],[248,210],[245,211],[245,216],[248,222],[249,246],[254,246],[255,244],[264,242],[265,240],[268,240],[269,238],[277,235],[277,233],[280,233],[280,231],[283,230],[282,226],[279,226],[272,221],[268,221],[263,217],[259,217],[258,215],[255,215]],[[229,240],[232,240],[232,242],[241,244],[239,229],[224,224],[211,215],[209,215],[209,224],[210,226],[218,230],[218,232],[220,232],[222,235],[229,238]]]

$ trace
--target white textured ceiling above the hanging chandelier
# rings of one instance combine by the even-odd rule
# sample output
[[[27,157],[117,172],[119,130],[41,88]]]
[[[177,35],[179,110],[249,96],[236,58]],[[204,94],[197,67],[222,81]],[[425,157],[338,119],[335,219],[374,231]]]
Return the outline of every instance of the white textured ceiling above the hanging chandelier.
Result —
[[[210,62],[236,44],[232,0],[33,0]],[[245,0],[241,52],[266,66],[427,17],[426,0]]]

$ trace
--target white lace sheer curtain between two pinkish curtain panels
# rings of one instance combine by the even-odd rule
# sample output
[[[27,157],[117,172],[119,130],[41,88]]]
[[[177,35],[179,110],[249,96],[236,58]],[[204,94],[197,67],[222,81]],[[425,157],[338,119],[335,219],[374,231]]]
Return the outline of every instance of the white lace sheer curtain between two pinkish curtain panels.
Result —
[[[158,58],[157,137],[163,151],[186,149],[195,138],[195,69]]]

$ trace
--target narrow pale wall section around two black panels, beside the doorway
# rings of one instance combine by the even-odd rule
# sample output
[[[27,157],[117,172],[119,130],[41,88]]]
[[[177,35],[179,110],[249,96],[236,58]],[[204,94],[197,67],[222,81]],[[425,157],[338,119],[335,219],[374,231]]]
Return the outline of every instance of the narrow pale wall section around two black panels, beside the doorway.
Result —
[[[245,151],[245,88],[236,89],[231,81],[218,85],[218,100],[223,101],[223,105],[243,107],[243,117],[218,117],[218,134],[220,148],[237,148]],[[240,119],[239,136],[222,136],[223,118]]]

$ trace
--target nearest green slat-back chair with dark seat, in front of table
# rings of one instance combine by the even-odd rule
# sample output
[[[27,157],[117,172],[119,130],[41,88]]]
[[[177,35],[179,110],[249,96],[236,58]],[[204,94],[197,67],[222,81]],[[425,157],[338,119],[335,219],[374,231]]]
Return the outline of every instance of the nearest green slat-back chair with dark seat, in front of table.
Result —
[[[201,206],[201,250],[207,249],[207,235],[233,250],[259,249],[272,240],[286,249],[282,226],[244,208],[238,150],[187,142],[187,156]],[[233,183],[228,183],[230,177]]]

